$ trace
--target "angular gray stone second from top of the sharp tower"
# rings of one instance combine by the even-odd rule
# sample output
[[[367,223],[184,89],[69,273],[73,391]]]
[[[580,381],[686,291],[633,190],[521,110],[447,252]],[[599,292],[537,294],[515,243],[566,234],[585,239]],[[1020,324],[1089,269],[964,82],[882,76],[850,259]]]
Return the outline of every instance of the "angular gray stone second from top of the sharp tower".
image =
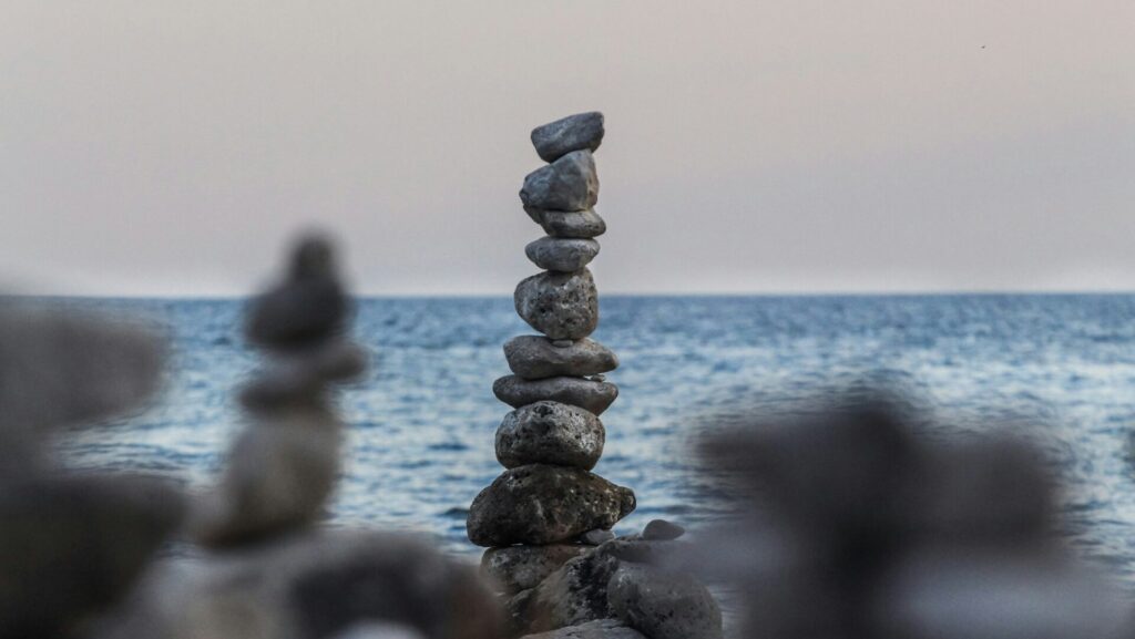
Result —
[[[572,151],[524,177],[520,201],[553,211],[582,211],[599,200],[599,176],[590,151]]]

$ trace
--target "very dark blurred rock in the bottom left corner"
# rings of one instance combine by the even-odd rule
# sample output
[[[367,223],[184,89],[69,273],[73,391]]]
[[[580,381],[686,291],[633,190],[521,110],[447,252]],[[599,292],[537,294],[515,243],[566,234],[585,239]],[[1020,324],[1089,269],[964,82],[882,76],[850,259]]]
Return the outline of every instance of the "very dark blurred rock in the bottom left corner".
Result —
[[[182,512],[175,488],[141,477],[0,485],[0,638],[82,631],[126,595]]]

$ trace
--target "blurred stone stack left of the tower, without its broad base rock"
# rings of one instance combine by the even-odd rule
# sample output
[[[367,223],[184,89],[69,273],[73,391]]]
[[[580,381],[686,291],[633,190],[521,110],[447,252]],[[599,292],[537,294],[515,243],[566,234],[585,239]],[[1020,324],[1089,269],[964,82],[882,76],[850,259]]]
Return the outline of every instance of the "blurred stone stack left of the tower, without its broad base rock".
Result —
[[[268,365],[243,389],[250,424],[218,489],[202,502],[194,537],[225,547],[316,521],[339,474],[343,423],[327,392],[360,375],[362,351],[344,333],[350,301],[328,241],[303,238],[283,281],[255,299],[245,335]]]

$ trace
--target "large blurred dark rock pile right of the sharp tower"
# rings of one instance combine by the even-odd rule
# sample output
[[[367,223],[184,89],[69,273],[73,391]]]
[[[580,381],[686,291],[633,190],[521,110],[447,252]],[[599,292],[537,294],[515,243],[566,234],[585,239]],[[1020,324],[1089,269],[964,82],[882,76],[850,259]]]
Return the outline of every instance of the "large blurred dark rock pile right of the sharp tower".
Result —
[[[1129,606],[1059,531],[1032,445],[885,393],[829,394],[715,436],[745,519],[686,557],[732,581],[753,639],[1119,639]]]

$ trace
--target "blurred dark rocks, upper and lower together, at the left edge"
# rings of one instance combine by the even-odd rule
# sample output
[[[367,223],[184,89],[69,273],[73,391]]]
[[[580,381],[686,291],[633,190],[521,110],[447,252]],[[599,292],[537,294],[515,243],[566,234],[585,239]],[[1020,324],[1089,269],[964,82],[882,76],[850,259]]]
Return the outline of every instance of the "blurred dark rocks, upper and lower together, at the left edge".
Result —
[[[50,442],[136,409],[163,361],[141,325],[0,299],[0,638],[85,636],[176,531],[171,484],[68,470]]]

